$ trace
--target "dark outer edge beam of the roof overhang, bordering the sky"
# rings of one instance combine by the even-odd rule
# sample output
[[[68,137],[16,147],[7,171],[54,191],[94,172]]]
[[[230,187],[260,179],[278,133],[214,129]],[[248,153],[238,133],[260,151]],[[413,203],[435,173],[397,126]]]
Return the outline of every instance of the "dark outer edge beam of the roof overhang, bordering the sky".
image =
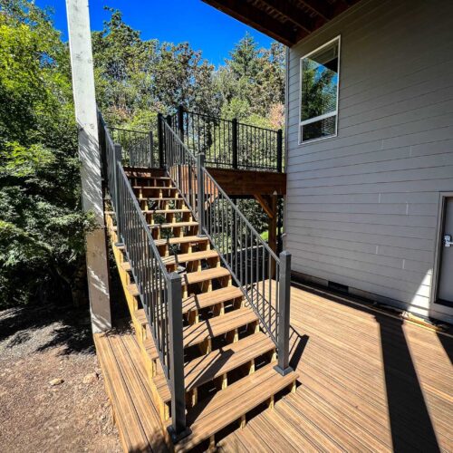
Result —
[[[280,43],[291,47],[296,43],[297,30],[292,30],[287,24],[282,24],[264,11],[246,1],[235,0],[203,0],[218,10],[231,15],[244,24],[254,27],[256,30],[267,34]]]

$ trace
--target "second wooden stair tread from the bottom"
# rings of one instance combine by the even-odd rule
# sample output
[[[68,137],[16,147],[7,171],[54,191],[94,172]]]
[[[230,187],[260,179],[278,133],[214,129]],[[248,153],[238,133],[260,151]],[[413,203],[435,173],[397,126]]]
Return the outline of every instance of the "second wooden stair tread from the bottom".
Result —
[[[265,333],[259,332],[188,361],[184,366],[185,389],[190,391],[199,387],[274,349],[274,342]],[[154,384],[160,398],[169,402],[171,393],[165,375],[157,375]]]

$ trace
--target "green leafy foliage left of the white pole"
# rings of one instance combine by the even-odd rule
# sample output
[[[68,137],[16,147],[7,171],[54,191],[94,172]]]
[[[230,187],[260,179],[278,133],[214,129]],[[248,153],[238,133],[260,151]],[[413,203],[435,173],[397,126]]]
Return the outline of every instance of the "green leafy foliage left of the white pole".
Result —
[[[71,301],[84,263],[66,46],[47,12],[0,0],[0,306]]]

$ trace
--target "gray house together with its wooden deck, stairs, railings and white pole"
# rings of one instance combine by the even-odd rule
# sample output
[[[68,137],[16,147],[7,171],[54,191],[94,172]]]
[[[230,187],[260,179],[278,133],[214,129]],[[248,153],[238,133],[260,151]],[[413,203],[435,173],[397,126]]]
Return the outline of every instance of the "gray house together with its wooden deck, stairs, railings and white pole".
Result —
[[[451,320],[453,6],[205,1],[288,46],[285,173],[281,132],[183,110],[159,115],[156,149],[149,132],[121,146],[96,110],[88,5],[67,0],[92,330],[123,448],[450,451],[451,333],[354,296]],[[274,233],[286,198],[281,254],[230,196]],[[111,329],[107,243],[131,332]]]

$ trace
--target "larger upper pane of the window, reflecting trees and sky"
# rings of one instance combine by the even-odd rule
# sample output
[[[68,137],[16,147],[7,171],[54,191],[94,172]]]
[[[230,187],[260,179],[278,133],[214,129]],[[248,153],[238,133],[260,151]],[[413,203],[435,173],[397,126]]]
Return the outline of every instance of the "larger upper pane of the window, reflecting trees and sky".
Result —
[[[302,61],[301,120],[336,111],[338,41]]]

